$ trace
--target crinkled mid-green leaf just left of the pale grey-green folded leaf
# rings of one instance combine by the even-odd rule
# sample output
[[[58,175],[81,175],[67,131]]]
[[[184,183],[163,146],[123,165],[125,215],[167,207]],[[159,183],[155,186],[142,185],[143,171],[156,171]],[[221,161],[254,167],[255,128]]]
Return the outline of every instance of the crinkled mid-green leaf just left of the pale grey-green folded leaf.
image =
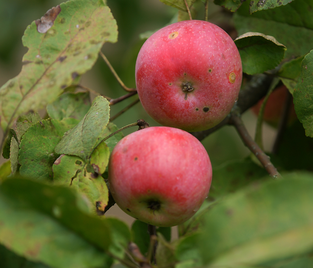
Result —
[[[65,131],[77,124],[74,118],[61,121],[41,120],[31,126],[23,135],[20,143],[18,163],[22,176],[38,180],[52,180],[52,165],[59,157],[54,147],[61,140]]]

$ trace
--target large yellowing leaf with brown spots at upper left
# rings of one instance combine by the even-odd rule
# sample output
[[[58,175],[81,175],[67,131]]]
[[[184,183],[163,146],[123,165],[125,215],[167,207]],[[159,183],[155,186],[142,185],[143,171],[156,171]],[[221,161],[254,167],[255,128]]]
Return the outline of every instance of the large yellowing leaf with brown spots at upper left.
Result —
[[[99,0],[60,4],[61,12],[46,33],[29,25],[22,38],[28,52],[21,73],[0,88],[3,129],[22,113],[54,101],[64,88],[94,65],[105,42],[117,41],[117,26],[110,9]]]

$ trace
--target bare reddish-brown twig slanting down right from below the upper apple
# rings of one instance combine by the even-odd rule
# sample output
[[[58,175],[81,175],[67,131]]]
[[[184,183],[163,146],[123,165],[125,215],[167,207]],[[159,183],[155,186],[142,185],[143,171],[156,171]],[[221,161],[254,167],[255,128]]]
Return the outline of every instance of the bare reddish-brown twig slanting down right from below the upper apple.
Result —
[[[269,175],[273,179],[280,178],[281,175],[269,160],[269,156],[267,156],[259,145],[251,138],[249,135],[246,127],[244,126],[243,121],[241,120],[240,116],[232,113],[230,118],[230,124],[233,124],[237,129],[241,139],[243,140],[244,144],[250,149],[250,151],[259,159],[261,164],[264,166],[265,170],[269,173]]]

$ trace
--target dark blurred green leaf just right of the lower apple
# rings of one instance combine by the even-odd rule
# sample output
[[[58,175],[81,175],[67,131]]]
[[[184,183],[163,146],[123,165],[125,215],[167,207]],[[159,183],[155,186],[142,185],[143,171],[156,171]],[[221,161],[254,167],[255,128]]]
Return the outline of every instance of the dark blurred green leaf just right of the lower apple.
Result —
[[[209,198],[217,199],[236,192],[254,181],[260,181],[268,173],[250,158],[228,161],[213,168]]]

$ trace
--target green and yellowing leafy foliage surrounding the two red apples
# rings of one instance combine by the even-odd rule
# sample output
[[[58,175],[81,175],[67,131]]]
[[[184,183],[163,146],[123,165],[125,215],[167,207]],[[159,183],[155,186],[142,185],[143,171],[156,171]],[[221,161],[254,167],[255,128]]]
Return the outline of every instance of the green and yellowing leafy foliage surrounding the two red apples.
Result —
[[[279,147],[268,153],[281,177],[257,156],[214,167],[208,198],[178,226],[177,240],[157,228],[150,243],[146,224],[105,217],[114,204],[108,160],[123,134],[105,138],[123,127],[110,117],[120,100],[82,91],[80,79],[104,43],[117,42],[118,23],[104,0],[60,3],[27,26],[22,70],[0,88],[9,159],[0,166],[1,267],[313,267],[313,1],[187,0],[188,9],[184,0],[160,1],[174,13],[170,23],[189,19],[188,9],[209,21],[218,10],[217,21],[236,30],[244,79],[231,114],[278,83],[293,95],[299,120],[279,129]],[[203,140],[226,124],[193,134]]]

